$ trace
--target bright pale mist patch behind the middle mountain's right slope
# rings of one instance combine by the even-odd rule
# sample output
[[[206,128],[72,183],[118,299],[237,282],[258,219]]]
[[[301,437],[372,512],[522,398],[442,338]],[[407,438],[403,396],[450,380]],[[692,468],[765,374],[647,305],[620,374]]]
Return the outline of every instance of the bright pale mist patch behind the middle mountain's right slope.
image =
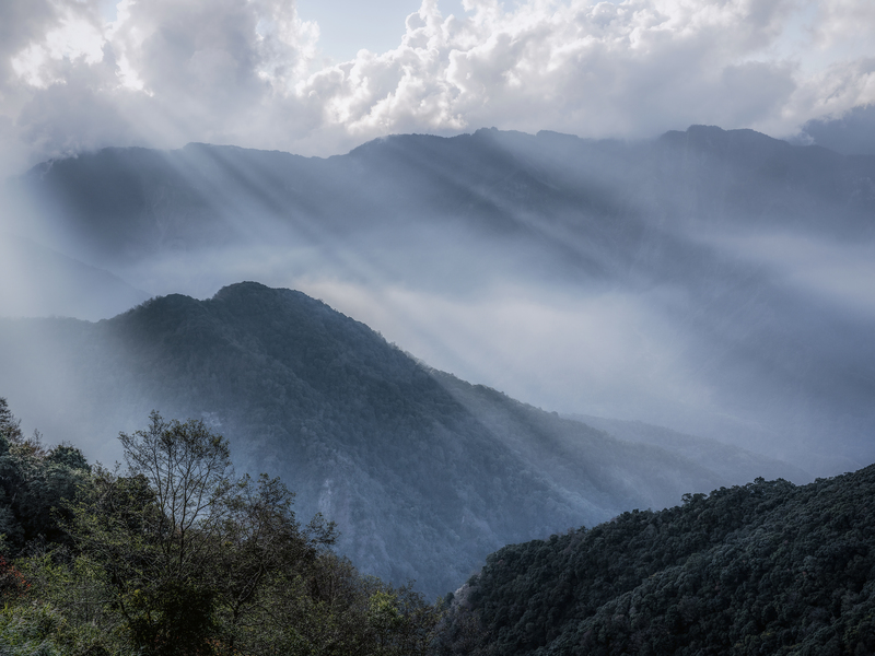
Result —
[[[633,294],[518,281],[467,298],[338,279],[294,286],[431,366],[547,410],[662,419],[666,407],[711,403],[682,336]]]

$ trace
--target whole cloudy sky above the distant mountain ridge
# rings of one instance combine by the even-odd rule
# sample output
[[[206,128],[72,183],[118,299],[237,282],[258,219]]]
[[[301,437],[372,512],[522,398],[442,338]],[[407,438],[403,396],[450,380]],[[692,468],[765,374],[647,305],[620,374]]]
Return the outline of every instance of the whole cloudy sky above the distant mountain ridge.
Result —
[[[870,0],[4,0],[0,175],[106,145],[330,155],[480,127],[810,141],[855,112],[871,133],[874,31]]]

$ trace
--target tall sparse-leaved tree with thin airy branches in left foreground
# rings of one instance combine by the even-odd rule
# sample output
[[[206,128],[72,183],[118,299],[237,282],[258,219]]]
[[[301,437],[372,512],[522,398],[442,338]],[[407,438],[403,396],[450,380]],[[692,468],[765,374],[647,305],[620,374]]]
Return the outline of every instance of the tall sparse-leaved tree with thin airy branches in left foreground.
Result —
[[[208,654],[215,590],[210,560],[234,489],[228,442],[203,422],[120,433],[126,476],[98,470],[74,508],[82,552],[104,572],[130,640],[147,654]]]

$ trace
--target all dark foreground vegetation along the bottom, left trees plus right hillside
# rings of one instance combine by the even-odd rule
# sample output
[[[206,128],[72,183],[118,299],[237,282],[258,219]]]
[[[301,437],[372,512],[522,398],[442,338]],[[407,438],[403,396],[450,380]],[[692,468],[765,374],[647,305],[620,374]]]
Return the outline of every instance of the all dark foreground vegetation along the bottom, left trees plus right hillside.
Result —
[[[124,470],[90,467],[0,399],[0,655],[875,653],[875,466],[512,544],[431,606],[202,423],[120,440]]]

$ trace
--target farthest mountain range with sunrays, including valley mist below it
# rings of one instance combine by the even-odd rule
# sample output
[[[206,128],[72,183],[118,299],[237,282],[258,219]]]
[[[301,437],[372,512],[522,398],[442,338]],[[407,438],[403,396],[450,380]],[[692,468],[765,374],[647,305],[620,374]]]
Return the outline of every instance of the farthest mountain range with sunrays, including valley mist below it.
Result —
[[[872,156],[693,126],[105,149],[4,197],[19,234],[150,294],[299,286],[514,397],[824,476],[875,459],[873,179]]]

